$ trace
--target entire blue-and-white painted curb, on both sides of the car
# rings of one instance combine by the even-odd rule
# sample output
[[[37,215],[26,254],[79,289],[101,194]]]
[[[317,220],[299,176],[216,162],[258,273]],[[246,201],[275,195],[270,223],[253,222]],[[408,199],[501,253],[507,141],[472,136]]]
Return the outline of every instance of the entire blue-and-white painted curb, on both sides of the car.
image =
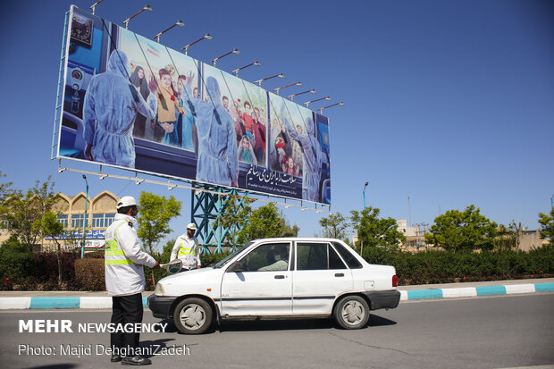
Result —
[[[506,286],[462,287],[457,289],[399,290],[400,301],[440,298],[475,298],[492,295],[514,295],[535,292],[554,292],[554,283],[510,284]],[[142,306],[148,307],[147,297]],[[110,309],[110,297],[23,297],[0,298],[0,310],[25,309]]]

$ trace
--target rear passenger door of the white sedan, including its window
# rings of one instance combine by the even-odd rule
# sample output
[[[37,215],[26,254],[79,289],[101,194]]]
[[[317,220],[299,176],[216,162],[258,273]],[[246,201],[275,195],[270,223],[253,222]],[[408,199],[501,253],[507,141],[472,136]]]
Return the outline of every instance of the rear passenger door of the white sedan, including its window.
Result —
[[[293,314],[328,314],[337,296],[352,290],[352,273],[328,242],[296,242]]]

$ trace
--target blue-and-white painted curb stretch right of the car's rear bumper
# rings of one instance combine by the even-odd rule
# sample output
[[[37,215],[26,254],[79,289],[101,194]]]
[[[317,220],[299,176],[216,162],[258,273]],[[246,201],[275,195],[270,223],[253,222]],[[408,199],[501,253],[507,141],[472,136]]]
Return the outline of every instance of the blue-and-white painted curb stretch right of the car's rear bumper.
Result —
[[[458,289],[400,290],[400,301],[437,298],[474,298],[477,296],[514,295],[554,292],[554,283],[510,284],[506,286],[463,287]]]

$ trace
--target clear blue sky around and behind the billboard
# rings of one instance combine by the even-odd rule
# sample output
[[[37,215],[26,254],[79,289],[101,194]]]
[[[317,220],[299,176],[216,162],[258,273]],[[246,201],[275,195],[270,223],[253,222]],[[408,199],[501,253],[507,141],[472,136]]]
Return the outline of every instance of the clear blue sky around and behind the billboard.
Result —
[[[74,1],[88,9],[93,0]],[[4,2],[0,29],[3,112],[0,171],[18,189],[53,175],[56,189],[84,191],[80,173],[50,160],[64,13],[71,2]],[[123,5],[124,4],[124,5]],[[122,21],[143,0],[105,0],[97,15]],[[300,80],[317,97],[345,106],[331,119],[332,210],[367,204],[382,214],[432,223],[441,211],[474,204],[492,221],[538,227],[554,194],[554,4],[550,1],[161,1],[130,29],[173,49],[210,33],[189,55],[245,80],[282,72],[276,88]],[[301,92],[300,87],[290,93]],[[299,102],[306,101],[299,99]],[[321,104],[321,105],[319,105]],[[321,107],[316,103],[311,107]],[[97,165],[63,165],[97,172]],[[129,172],[114,171],[120,175]],[[140,190],[183,200],[178,234],[189,221],[190,193],[88,176],[90,193]],[[282,209],[300,235],[320,231],[322,214]]]

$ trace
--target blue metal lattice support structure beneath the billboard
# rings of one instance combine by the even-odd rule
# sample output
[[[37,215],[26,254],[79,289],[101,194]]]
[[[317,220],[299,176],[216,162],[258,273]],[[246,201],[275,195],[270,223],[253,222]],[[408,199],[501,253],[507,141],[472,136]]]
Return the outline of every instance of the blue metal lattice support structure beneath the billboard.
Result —
[[[191,221],[197,224],[197,238],[199,245],[202,246],[202,254],[209,254],[210,248],[214,248],[214,253],[223,252],[223,246],[226,246],[225,239],[230,232],[241,231],[244,224],[237,224],[234,229],[227,229],[223,226],[214,227],[214,222],[225,210],[226,200],[229,196],[237,197],[237,205],[242,209],[248,205],[248,192],[239,193],[238,189],[228,189],[220,186],[205,184],[194,184],[198,190],[191,190]],[[206,189],[210,192],[202,191]],[[228,245],[233,248],[233,245]]]

